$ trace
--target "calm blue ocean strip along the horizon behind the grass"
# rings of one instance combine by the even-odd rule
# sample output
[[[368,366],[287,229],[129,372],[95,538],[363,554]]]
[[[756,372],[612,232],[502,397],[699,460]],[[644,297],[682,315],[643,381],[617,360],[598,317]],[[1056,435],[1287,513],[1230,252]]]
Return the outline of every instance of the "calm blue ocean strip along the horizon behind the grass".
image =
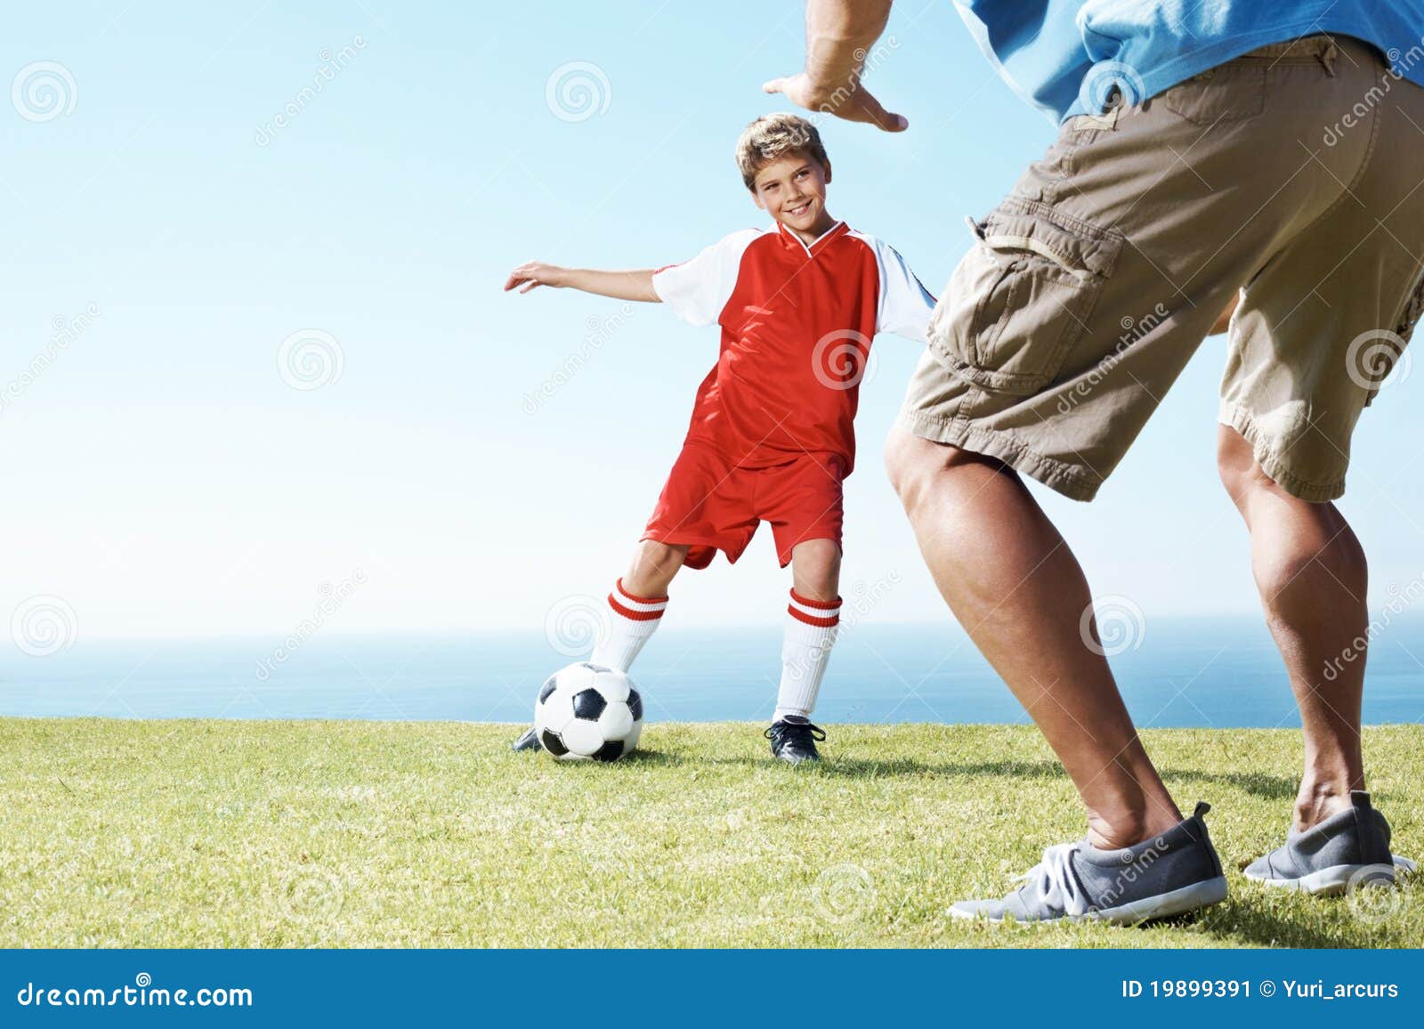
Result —
[[[527,721],[540,683],[578,656],[541,631],[382,637],[85,640],[0,656],[0,715]],[[649,721],[760,720],[779,674],[778,627],[664,630],[634,680]],[[1259,617],[1153,619],[1112,666],[1141,727],[1300,724]],[[281,656],[279,656],[281,654]],[[1383,629],[1367,723],[1424,718],[1424,620]],[[844,629],[820,693],[823,723],[1027,723],[953,623]]]

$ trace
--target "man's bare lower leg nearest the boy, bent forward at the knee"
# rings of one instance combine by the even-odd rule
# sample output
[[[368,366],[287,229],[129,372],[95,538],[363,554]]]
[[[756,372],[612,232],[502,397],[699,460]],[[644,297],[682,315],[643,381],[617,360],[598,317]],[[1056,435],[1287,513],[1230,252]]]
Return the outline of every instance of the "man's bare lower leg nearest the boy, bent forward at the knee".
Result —
[[[950,610],[1088,805],[1089,842],[1129,847],[1180,821],[1108,661],[1079,633],[1092,603],[1082,569],[1018,476],[900,428],[886,462]]]

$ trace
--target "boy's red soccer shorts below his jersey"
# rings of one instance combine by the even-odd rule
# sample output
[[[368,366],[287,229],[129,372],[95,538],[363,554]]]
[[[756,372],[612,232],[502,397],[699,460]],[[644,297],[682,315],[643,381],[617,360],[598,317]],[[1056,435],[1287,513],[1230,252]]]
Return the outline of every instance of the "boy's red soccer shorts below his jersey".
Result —
[[[718,550],[736,563],[758,523],[770,522],[785,569],[797,543],[834,540],[840,546],[844,467],[844,457],[830,453],[807,453],[769,467],[738,467],[711,448],[688,443],[642,539],[688,544],[685,564],[705,569]]]

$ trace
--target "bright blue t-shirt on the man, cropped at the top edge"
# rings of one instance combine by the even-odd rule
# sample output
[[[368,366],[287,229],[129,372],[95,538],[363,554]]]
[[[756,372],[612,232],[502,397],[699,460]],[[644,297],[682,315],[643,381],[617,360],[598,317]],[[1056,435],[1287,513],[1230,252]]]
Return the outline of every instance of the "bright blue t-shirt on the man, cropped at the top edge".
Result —
[[[984,56],[1055,121],[1129,104],[1300,36],[1373,43],[1424,86],[1424,0],[954,0]]]

